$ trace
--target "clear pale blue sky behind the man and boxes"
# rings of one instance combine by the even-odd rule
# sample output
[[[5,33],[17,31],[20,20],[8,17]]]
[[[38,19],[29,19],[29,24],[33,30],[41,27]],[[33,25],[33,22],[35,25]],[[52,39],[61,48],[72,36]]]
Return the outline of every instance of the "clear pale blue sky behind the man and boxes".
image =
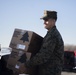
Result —
[[[56,26],[64,44],[76,45],[76,0],[0,0],[1,46],[9,47],[15,28],[44,37],[44,10],[57,11]]]

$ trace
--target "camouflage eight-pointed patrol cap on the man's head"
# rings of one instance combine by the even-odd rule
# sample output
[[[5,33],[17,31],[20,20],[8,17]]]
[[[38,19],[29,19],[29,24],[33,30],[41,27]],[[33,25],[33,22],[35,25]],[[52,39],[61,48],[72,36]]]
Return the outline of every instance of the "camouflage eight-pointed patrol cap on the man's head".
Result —
[[[45,19],[50,19],[50,18],[57,20],[57,12],[44,10],[44,16],[40,19],[45,20]]]

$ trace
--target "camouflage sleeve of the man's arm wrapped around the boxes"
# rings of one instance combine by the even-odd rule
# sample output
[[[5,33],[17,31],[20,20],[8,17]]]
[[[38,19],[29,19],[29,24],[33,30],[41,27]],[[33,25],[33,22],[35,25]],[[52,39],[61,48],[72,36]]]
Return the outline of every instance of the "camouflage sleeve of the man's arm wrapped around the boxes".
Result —
[[[48,37],[46,41],[44,41],[40,51],[31,60],[26,62],[25,65],[35,66],[35,65],[41,65],[43,63],[46,63],[50,59],[53,53],[55,44],[56,44],[55,39]]]

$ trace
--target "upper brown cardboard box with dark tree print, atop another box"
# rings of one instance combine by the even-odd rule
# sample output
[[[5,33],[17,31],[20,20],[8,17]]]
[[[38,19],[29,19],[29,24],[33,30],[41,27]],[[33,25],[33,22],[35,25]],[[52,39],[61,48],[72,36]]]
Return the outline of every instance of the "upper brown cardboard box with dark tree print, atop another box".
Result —
[[[37,53],[41,47],[42,41],[43,37],[35,32],[15,29],[9,47]]]

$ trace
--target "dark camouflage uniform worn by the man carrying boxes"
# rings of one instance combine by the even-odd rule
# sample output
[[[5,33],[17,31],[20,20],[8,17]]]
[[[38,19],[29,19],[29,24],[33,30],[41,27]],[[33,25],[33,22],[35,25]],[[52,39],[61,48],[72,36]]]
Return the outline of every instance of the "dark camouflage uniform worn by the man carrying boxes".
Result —
[[[47,32],[39,52],[26,63],[27,67],[39,65],[39,75],[61,75],[64,43],[54,26]]]

